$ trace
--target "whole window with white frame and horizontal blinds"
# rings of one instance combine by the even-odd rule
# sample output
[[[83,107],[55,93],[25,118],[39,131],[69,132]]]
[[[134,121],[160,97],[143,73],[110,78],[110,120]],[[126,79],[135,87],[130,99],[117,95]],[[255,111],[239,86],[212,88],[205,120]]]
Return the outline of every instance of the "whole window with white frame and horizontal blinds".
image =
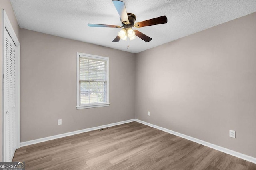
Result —
[[[109,106],[108,57],[77,53],[77,109]]]

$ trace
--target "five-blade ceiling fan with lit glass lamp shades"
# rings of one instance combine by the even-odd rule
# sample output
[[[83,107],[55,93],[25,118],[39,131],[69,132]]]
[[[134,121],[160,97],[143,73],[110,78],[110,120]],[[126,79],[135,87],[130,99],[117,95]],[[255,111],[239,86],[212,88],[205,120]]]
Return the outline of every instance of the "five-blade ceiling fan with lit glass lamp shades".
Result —
[[[112,28],[122,28],[120,32],[118,32],[118,36],[112,41],[112,42],[119,42],[120,39],[127,40],[127,36],[130,40],[133,40],[136,38],[135,36],[138,36],[145,42],[149,42],[152,40],[149,36],[146,36],[142,32],[139,32],[138,30],[132,30],[132,27],[140,28],[145,26],[152,26],[157,24],[165,24],[167,23],[167,17],[166,16],[160,16],[157,18],[152,18],[150,20],[145,20],[141,22],[137,22],[134,24],[136,20],[136,15],[132,13],[127,13],[124,2],[120,0],[113,0],[114,6],[116,7],[116,10],[120,16],[120,20],[122,22],[122,26],[115,26],[115,25],[105,25],[105,24],[88,24],[90,27],[112,27]]]

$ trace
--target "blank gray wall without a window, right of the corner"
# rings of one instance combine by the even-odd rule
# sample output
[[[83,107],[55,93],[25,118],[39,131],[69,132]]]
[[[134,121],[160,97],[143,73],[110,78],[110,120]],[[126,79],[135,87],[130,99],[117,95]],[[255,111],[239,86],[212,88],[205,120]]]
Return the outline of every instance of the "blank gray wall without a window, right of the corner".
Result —
[[[256,158],[255,18],[138,53],[136,118]]]

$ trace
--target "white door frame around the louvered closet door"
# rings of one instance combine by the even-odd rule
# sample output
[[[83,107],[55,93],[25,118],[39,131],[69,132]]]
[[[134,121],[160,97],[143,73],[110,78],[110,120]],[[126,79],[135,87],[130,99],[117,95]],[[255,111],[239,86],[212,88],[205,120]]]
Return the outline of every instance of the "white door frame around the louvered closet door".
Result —
[[[12,24],[2,9],[2,75],[4,75],[4,29],[10,34],[16,45],[16,149],[20,148],[20,42],[12,28]],[[4,78],[2,76],[2,159],[4,155]]]

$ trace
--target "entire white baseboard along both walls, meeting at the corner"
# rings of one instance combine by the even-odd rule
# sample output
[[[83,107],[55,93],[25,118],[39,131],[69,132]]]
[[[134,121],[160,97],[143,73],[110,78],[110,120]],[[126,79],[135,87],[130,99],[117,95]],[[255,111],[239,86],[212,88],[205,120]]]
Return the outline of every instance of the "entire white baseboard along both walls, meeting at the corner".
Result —
[[[241,158],[241,159],[244,159],[244,160],[247,160],[249,162],[252,162],[254,164],[256,164],[256,158],[252,157],[252,156],[248,156],[248,155],[245,155],[245,154],[241,154],[239,152],[236,152],[234,150],[230,150],[230,149],[227,149],[227,148],[223,148],[221,146],[218,146],[218,145],[215,145],[215,144],[211,144],[209,142],[205,142],[203,140],[200,140],[200,139],[197,139],[197,138],[193,138],[191,136],[187,136],[185,134],[181,134],[181,133],[178,133],[178,132],[174,132],[172,130],[169,130],[167,128],[163,128],[163,127],[159,127],[157,125],[153,125],[151,123],[147,123],[147,122],[144,122],[144,121],[141,121],[139,119],[130,119],[130,120],[127,120],[127,121],[121,121],[121,122],[116,122],[116,123],[111,123],[111,124],[107,124],[107,125],[102,125],[102,126],[98,126],[98,127],[92,127],[92,128],[86,128],[86,129],[82,129],[82,130],[77,130],[77,131],[74,131],[74,132],[68,132],[68,133],[64,133],[64,134],[58,134],[58,135],[54,135],[54,136],[49,136],[49,137],[46,137],[46,138],[40,138],[40,139],[36,139],[36,140],[30,140],[30,141],[26,141],[26,142],[21,142],[20,143],[20,146],[28,146],[28,145],[31,145],[31,144],[36,144],[36,143],[40,143],[40,142],[45,142],[45,141],[48,141],[48,140],[54,140],[54,139],[58,139],[58,138],[63,138],[63,137],[66,137],[66,136],[71,136],[71,135],[74,135],[74,134],[79,134],[79,133],[84,133],[84,132],[89,132],[89,131],[92,131],[92,130],[98,130],[98,129],[101,129],[101,128],[106,128],[106,127],[112,127],[112,126],[116,126],[116,125],[121,125],[121,124],[124,124],[124,123],[129,123],[129,122],[133,122],[133,121],[136,121],[136,122],[139,122],[139,123],[142,123],[144,125],[148,125],[150,127],[153,127],[153,128],[157,128],[159,130],[162,130],[164,132],[167,132],[167,133],[170,133],[170,134],[174,134],[176,136],[179,136],[179,137],[182,137],[182,138],[185,138],[185,139],[188,139],[190,141],[193,141],[193,142],[196,142],[196,143],[199,143],[199,144],[202,144],[204,146],[207,146],[209,148],[213,148],[215,150],[218,150],[220,152],[224,152],[226,154],[230,154],[232,156],[236,156],[238,158]]]

